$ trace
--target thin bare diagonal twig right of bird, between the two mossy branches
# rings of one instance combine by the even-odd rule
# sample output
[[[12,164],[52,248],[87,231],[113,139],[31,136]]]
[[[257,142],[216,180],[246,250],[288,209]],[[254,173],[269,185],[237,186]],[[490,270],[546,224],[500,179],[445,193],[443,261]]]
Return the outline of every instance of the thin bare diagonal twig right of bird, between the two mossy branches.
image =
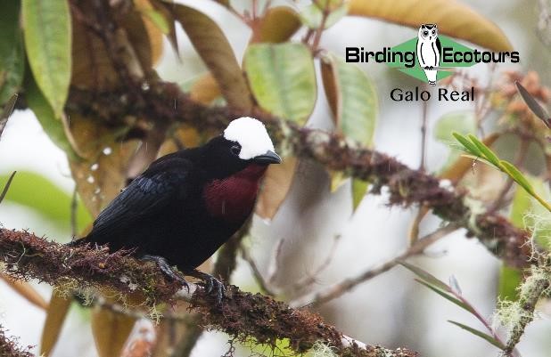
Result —
[[[325,288],[321,292],[300,296],[299,298],[290,302],[289,305],[296,308],[306,305],[317,306],[320,304],[325,304],[328,301],[331,301],[339,296],[344,295],[347,292],[350,292],[359,284],[366,282],[367,280],[373,279],[383,272],[390,271],[393,267],[398,265],[400,261],[406,260],[411,256],[417,256],[423,253],[426,247],[429,247],[435,241],[447,236],[452,231],[456,231],[457,228],[459,228],[459,226],[456,223],[450,223],[446,227],[440,228],[437,231],[433,231],[431,234],[424,236],[424,238],[417,240],[413,246],[409,247],[406,250],[406,252],[395,258],[392,258],[388,262],[380,264],[372,269],[367,270],[366,272],[362,272],[356,277],[342,280],[341,282],[334,284],[332,287]]]

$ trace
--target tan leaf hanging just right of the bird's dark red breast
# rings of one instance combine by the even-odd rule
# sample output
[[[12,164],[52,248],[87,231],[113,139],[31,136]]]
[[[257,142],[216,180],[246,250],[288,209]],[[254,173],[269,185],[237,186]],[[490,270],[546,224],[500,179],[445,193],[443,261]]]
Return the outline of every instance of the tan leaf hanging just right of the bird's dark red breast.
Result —
[[[284,158],[280,165],[270,165],[267,168],[257,201],[257,215],[268,220],[274,218],[291,188],[297,165],[297,158]]]

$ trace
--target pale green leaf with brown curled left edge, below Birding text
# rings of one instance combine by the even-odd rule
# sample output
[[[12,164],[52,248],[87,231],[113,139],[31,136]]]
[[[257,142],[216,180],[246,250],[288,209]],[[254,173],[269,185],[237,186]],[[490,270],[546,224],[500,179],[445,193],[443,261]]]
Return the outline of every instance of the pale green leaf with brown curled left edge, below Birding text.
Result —
[[[371,79],[333,54],[325,56],[322,79],[335,126],[346,137],[372,146],[379,108]]]

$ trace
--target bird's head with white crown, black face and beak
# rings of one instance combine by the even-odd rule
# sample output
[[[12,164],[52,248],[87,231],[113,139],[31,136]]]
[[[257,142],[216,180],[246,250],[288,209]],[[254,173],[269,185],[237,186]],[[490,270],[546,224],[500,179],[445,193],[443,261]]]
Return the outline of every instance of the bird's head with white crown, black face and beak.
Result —
[[[211,166],[215,176],[226,177],[251,167],[251,173],[263,174],[270,164],[280,164],[281,158],[274,150],[274,143],[266,127],[259,120],[249,117],[234,119],[207,144]]]

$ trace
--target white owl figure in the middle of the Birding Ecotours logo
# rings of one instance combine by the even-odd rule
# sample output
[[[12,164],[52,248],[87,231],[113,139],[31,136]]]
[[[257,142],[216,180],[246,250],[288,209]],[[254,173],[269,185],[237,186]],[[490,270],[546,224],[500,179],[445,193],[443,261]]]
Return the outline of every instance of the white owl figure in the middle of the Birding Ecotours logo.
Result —
[[[417,61],[424,70],[429,85],[436,85],[436,74],[440,65],[440,39],[436,24],[424,23],[417,36]]]

